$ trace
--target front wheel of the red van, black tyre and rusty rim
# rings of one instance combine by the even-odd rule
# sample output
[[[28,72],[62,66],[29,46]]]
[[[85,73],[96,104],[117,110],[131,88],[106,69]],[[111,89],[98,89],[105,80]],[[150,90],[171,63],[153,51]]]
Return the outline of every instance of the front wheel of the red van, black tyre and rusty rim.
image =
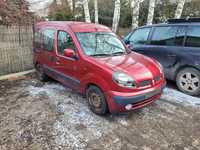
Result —
[[[108,105],[104,93],[97,86],[90,86],[86,90],[86,98],[89,108],[97,115],[108,113]]]

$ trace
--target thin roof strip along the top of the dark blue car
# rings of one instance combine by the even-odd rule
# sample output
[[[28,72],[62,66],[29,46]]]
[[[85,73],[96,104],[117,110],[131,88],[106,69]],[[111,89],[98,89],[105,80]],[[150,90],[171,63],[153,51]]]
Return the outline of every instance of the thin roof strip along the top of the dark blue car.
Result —
[[[141,26],[139,28],[145,28],[145,27],[162,27],[162,26],[193,26],[197,25],[200,26],[200,22],[193,22],[193,23],[159,23],[159,24],[152,24],[152,25],[146,25],[146,26]]]

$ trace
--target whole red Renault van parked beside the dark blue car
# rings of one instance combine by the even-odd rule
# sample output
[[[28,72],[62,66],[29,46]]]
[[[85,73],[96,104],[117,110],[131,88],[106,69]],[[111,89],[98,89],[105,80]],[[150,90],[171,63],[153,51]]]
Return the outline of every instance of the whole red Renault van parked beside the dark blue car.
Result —
[[[131,52],[102,25],[41,22],[33,43],[39,79],[51,77],[86,95],[99,115],[142,108],[159,99],[165,86],[157,61]]]

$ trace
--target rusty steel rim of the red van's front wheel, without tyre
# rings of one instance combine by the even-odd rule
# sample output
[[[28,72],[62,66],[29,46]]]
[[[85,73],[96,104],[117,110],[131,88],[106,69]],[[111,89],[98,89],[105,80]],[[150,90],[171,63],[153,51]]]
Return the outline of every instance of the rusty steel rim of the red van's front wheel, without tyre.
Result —
[[[99,108],[101,106],[101,97],[97,93],[89,94],[89,103],[95,108]]]

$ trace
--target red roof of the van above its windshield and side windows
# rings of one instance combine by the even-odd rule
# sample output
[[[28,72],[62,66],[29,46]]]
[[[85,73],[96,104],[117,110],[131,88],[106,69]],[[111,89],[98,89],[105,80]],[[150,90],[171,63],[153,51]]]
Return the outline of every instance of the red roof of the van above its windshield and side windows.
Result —
[[[63,27],[70,28],[73,32],[112,32],[108,27],[86,22],[76,22],[76,21],[44,21],[36,24],[36,27]]]

